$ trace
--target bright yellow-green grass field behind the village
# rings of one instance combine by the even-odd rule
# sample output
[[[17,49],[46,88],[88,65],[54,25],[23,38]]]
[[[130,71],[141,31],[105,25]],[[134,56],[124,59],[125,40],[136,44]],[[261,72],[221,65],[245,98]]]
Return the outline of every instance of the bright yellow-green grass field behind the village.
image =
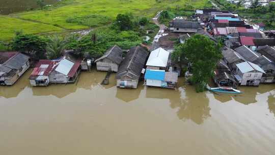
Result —
[[[75,16],[95,14],[101,18],[105,16],[112,22],[119,13],[132,12],[135,15],[153,17],[163,8],[184,7],[186,4],[194,8],[210,7],[208,0],[162,0],[160,3],[155,0],[70,0],[62,7],[0,16],[0,40],[9,40],[14,31],[18,30],[38,34],[89,29],[88,25],[68,22],[68,18]],[[105,24],[97,19],[91,21],[95,21],[91,24],[93,28]]]

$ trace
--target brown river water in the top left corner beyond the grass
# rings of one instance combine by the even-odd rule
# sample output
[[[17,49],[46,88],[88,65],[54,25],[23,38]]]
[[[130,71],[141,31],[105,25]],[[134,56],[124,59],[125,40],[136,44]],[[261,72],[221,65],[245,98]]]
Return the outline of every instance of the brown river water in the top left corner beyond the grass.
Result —
[[[58,0],[44,0],[45,4],[53,4]],[[38,8],[37,0],[0,0],[0,14],[28,11]]]

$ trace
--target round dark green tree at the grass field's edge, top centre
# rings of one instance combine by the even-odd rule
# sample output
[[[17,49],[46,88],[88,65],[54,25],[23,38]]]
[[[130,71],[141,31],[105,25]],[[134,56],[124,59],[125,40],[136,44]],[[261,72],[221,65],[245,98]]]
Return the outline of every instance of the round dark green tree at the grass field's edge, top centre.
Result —
[[[129,14],[118,14],[116,23],[121,31],[131,30],[133,28],[133,22]]]

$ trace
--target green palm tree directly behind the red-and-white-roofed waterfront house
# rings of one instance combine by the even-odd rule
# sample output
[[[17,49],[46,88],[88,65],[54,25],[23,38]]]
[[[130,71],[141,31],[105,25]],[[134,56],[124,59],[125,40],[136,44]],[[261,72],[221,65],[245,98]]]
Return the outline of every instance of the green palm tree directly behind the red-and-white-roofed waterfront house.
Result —
[[[60,38],[57,35],[49,38],[49,42],[46,46],[46,57],[48,59],[56,59],[60,57],[67,45],[65,38]]]

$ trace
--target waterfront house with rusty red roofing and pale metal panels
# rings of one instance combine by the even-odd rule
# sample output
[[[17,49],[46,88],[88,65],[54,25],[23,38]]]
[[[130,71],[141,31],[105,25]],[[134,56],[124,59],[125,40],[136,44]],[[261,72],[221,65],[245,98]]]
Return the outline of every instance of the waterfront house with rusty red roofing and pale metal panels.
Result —
[[[32,86],[74,83],[81,71],[81,60],[66,55],[59,60],[40,60],[29,77]]]

